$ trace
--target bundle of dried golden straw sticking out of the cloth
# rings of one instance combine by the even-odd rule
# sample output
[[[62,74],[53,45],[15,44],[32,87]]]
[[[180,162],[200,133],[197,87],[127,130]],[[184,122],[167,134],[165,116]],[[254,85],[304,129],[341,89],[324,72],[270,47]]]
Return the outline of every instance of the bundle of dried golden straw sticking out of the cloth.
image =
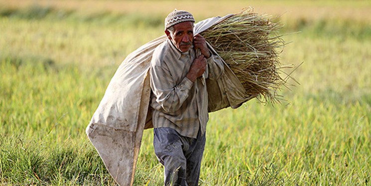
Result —
[[[202,35],[230,66],[247,94],[258,94],[258,100],[275,103],[280,100],[277,90],[285,83],[278,73],[278,54],[285,44],[278,34],[280,28],[281,24],[248,8]]]

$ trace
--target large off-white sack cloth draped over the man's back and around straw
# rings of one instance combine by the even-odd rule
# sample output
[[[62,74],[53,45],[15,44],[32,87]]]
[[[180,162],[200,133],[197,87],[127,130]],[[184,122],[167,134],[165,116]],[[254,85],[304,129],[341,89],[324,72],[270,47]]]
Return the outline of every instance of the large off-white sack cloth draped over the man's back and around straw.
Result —
[[[195,24],[194,33],[201,33],[232,15],[200,21]],[[125,58],[86,128],[109,173],[121,186],[132,185],[143,130],[153,127],[149,67],[154,49],[166,39],[164,35],[150,41]],[[207,80],[209,112],[230,106],[237,108],[256,96],[248,95],[236,75],[224,64],[219,80]]]

